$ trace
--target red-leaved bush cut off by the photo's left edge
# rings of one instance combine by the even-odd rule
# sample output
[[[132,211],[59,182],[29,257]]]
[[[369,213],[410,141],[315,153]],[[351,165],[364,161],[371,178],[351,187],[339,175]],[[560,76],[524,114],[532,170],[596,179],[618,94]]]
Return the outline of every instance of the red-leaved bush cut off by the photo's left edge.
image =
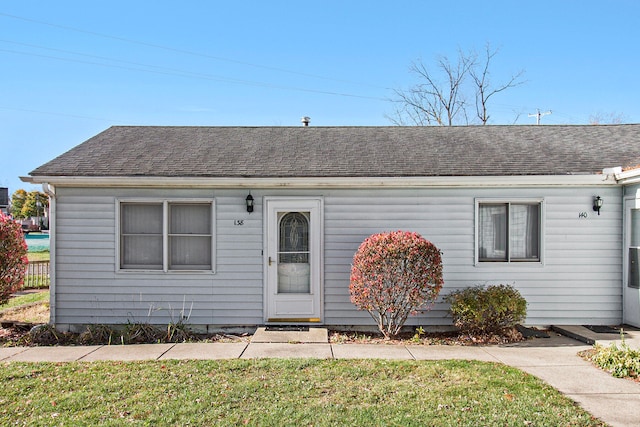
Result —
[[[22,227],[0,212],[0,304],[20,289],[28,262]]]

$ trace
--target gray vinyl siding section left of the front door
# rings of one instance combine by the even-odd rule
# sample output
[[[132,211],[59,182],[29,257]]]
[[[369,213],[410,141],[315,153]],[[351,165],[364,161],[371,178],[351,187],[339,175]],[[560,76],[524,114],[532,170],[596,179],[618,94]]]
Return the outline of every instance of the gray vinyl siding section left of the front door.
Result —
[[[216,273],[118,272],[118,198],[214,198]],[[163,324],[190,313],[194,325],[262,323],[262,221],[246,194],[211,190],[59,188],[56,323]],[[256,207],[259,211],[260,207]],[[245,225],[233,225],[244,219]]]

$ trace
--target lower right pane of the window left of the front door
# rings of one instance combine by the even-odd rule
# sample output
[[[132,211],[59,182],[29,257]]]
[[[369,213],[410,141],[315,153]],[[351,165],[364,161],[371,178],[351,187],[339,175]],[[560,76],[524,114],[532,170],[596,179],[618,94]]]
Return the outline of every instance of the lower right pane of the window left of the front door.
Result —
[[[211,270],[211,237],[171,236],[171,270]]]

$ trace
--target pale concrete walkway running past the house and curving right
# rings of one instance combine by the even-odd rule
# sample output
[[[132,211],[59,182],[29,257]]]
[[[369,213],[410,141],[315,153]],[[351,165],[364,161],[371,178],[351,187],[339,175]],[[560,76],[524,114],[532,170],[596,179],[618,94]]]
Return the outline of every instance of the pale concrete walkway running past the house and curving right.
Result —
[[[275,335],[272,335],[274,337]],[[315,335],[317,337],[317,333]],[[0,361],[71,362],[97,360],[165,359],[467,359],[499,362],[528,372],[578,402],[591,414],[612,426],[640,426],[640,384],[613,378],[577,353],[590,345],[557,333],[550,338],[534,338],[508,346],[421,346],[384,344],[329,344],[309,342],[280,334],[276,339],[254,335],[252,342],[184,344],[142,344],[84,347],[7,347],[0,348]],[[640,332],[631,333],[627,342],[635,343]],[[263,342],[256,342],[263,341]],[[270,342],[280,341],[280,342]],[[603,342],[604,344],[607,341]],[[636,348],[632,345],[633,348]]]

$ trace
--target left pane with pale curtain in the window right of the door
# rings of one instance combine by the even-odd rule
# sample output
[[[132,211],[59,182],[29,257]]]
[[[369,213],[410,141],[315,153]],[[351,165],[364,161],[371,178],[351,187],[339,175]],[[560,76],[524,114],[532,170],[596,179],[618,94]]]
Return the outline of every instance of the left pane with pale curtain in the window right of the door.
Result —
[[[485,261],[507,260],[507,205],[479,206],[478,257]]]

